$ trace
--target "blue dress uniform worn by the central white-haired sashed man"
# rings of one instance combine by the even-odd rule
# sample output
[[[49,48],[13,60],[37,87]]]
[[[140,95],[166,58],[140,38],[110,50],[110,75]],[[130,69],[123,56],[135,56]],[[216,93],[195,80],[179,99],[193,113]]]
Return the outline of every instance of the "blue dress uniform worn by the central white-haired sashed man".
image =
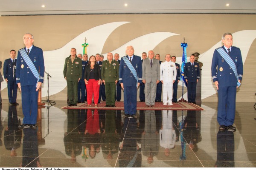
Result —
[[[128,58],[128,56],[125,56]],[[131,64],[137,72],[138,82],[142,83],[142,63],[139,56],[134,55]],[[137,80],[121,58],[119,67],[119,83],[124,85],[125,114],[134,115],[137,110]]]

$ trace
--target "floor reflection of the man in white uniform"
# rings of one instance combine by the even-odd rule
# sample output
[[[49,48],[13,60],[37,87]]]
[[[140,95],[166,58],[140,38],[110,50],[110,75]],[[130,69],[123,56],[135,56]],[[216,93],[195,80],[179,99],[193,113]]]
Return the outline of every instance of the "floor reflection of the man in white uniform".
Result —
[[[165,156],[170,155],[170,149],[175,148],[176,133],[172,125],[172,111],[163,111],[162,127],[159,131],[160,146],[165,148]]]

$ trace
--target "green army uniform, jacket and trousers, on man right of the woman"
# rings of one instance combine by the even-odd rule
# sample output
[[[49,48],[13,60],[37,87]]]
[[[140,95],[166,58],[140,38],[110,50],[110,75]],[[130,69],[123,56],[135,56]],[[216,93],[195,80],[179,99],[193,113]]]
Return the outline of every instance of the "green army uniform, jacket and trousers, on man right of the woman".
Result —
[[[119,80],[119,62],[112,59],[102,62],[102,80],[105,80],[106,105],[115,105],[116,80]]]

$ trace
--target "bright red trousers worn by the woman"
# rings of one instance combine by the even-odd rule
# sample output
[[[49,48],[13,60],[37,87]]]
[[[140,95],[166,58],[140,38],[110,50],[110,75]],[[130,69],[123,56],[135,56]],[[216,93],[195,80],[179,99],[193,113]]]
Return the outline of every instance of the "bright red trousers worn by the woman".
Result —
[[[93,99],[95,105],[98,104],[98,100],[99,100],[98,82],[99,82],[99,80],[95,80],[95,79],[88,80],[88,84],[86,85],[88,105],[92,104],[92,99]]]

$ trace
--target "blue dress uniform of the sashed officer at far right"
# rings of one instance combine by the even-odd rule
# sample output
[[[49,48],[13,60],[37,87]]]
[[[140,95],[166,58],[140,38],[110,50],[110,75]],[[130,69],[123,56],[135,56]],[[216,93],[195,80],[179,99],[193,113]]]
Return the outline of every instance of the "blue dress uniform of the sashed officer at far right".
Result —
[[[227,52],[224,45],[223,48]],[[243,77],[243,61],[239,48],[232,46],[230,58],[236,65],[239,80]],[[236,111],[236,76],[230,65],[215,49],[212,57],[212,80],[218,81],[218,123],[233,125]]]

